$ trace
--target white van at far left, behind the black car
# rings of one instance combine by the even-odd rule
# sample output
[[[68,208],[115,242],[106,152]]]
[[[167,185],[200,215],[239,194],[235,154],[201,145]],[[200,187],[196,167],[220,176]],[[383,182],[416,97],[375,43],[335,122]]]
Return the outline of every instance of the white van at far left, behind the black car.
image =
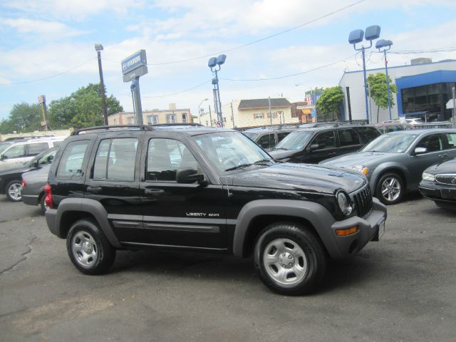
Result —
[[[0,153],[0,170],[31,160],[36,155],[51,147],[57,147],[67,137],[37,138],[14,142]]]

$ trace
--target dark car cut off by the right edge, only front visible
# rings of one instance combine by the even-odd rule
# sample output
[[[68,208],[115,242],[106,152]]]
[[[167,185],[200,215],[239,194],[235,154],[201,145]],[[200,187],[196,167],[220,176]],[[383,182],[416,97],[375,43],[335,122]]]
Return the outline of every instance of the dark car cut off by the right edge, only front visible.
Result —
[[[438,207],[456,209],[456,159],[427,167],[419,189]]]

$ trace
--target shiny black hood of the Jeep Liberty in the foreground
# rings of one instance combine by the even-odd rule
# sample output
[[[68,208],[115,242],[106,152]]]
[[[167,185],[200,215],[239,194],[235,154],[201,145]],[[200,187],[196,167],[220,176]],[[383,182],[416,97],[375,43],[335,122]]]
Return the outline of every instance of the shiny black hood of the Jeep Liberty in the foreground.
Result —
[[[234,186],[268,187],[333,194],[336,190],[358,190],[367,181],[362,175],[347,170],[314,164],[283,163],[256,170],[239,172],[231,177]]]

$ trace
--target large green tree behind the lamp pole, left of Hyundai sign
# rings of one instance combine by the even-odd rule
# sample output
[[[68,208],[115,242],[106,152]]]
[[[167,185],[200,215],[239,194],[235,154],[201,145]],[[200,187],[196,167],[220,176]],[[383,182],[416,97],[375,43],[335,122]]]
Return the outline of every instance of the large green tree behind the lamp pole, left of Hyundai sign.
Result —
[[[106,98],[106,109],[108,115],[123,111],[119,101],[113,95]],[[52,101],[48,113],[52,128],[84,128],[103,125],[100,84],[90,83],[66,98]]]

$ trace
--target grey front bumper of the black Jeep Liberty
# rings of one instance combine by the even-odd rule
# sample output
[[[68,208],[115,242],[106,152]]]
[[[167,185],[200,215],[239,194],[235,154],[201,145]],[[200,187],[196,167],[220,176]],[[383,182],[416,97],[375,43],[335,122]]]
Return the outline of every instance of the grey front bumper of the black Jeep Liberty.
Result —
[[[368,242],[378,241],[380,224],[385,222],[386,217],[385,204],[380,203],[378,199],[373,197],[373,208],[367,217],[350,217],[349,219],[334,222],[331,225],[331,231],[336,240],[338,253],[331,253],[331,257],[334,259],[343,259],[350,254],[361,251]],[[346,237],[336,234],[336,229],[348,229],[355,226],[358,227],[358,232],[355,234]]]

